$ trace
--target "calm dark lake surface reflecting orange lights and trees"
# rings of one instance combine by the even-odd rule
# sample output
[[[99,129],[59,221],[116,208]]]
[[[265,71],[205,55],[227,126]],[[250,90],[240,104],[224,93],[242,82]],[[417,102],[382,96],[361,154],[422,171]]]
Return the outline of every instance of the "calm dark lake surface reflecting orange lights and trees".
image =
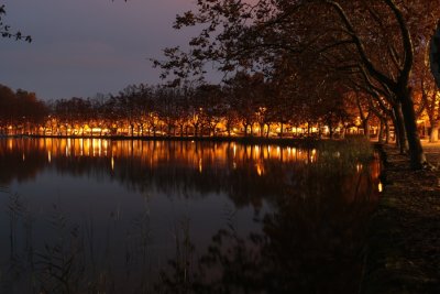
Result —
[[[356,293],[380,167],[349,153],[0,139],[0,292]]]

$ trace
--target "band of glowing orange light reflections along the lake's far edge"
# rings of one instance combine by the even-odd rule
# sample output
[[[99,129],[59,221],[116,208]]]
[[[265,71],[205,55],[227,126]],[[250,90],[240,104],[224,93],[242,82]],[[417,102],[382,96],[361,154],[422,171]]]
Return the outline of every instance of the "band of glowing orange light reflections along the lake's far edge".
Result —
[[[26,148],[29,142],[6,139],[9,150]],[[54,156],[87,156],[87,157],[122,157],[132,156],[141,160],[152,159],[155,164],[168,156],[179,156],[199,162],[202,156],[215,157],[224,163],[231,150],[233,157],[261,160],[280,160],[282,162],[314,161],[316,150],[297,152],[296,148],[273,145],[246,145],[238,149],[238,143],[212,143],[208,149],[200,149],[194,142],[168,141],[110,141],[105,139],[40,139],[32,143],[33,149],[45,150]],[[154,151],[154,152],[153,152]],[[51,156],[48,156],[50,159]]]

